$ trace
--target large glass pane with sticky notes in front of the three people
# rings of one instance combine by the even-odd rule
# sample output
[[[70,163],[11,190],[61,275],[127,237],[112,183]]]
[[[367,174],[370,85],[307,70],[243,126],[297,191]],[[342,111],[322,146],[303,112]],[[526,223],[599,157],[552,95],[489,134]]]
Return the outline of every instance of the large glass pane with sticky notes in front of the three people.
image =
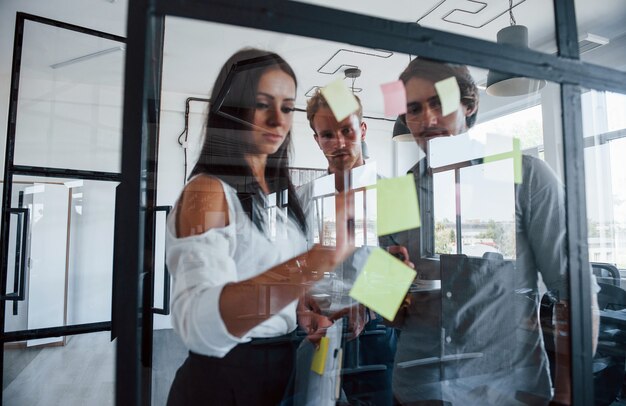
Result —
[[[291,69],[222,67],[246,47]],[[485,69],[173,17],[164,54],[153,402],[569,402],[558,84],[493,96]],[[287,140],[319,178],[255,172]],[[191,378],[234,364],[258,382]]]

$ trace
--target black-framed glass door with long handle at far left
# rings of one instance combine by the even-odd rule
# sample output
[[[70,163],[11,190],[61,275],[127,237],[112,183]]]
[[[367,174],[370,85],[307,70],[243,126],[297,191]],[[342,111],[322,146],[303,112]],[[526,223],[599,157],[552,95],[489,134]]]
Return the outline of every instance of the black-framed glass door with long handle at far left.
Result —
[[[124,39],[18,13],[2,182],[2,400],[113,404]]]

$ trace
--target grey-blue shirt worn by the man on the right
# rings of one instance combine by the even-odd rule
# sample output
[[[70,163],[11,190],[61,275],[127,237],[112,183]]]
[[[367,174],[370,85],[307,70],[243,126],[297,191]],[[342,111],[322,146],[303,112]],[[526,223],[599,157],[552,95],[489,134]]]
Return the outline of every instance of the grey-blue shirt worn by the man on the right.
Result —
[[[432,175],[421,162],[413,168],[418,194],[432,195]],[[563,188],[544,162],[523,156],[514,193],[515,260],[421,257],[425,233],[434,230],[423,226],[432,222],[432,208],[422,198],[422,228],[396,237],[422,278],[441,279],[440,291],[412,295],[399,326],[393,387],[401,402],[517,405],[551,398],[539,275],[567,298]]]

